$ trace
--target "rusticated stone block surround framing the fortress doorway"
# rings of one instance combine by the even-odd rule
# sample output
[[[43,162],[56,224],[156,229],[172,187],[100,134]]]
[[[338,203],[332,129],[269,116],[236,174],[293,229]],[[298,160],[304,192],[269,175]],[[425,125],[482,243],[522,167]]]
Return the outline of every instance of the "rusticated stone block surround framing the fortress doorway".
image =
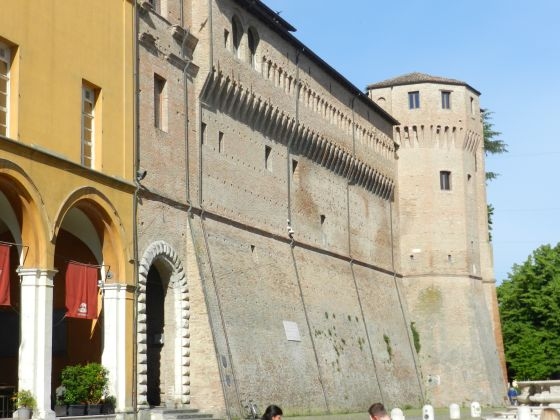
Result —
[[[176,400],[180,404],[190,403],[190,304],[187,278],[181,260],[175,250],[164,241],[156,241],[144,252],[138,269],[138,401],[140,405],[147,405],[147,316],[146,316],[146,289],[148,273],[152,265],[158,265],[169,273],[167,290],[173,293],[173,307],[176,308],[177,339],[174,342],[173,352],[176,355],[174,378]],[[179,356],[180,355],[180,356]],[[177,360],[180,359],[180,360]]]

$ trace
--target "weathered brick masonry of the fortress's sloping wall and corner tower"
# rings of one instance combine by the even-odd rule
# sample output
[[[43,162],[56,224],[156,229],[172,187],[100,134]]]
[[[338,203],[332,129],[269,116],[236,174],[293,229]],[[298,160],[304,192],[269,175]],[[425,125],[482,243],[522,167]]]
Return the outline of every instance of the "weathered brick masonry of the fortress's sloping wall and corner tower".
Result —
[[[230,416],[249,399],[302,415],[501,402],[478,95],[452,85],[452,112],[409,118],[409,87],[374,104],[258,3],[161,3],[139,10],[139,246],[168,244],[149,261],[188,289],[186,306],[165,292],[179,330],[162,402]],[[426,104],[447,88],[418,87]]]

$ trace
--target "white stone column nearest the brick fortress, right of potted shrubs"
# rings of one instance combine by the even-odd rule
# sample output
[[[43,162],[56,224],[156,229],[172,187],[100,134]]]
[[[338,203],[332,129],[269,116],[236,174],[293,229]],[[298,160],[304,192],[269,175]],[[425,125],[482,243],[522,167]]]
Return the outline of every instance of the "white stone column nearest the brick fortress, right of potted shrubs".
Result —
[[[103,286],[103,355],[102,363],[109,370],[109,393],[117,398],[116,410],[126,407],[126,293],[128,285],[111,283]],[[131,364],[132,366],[132,364]]]

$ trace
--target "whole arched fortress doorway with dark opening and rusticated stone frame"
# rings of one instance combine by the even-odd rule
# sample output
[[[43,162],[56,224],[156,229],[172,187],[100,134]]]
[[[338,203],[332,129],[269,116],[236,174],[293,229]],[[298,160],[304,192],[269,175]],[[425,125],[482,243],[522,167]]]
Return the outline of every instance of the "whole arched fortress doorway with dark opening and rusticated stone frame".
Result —
[[[138,402],[182,407],[190,402],[189,291],[176,252],[152,243],[140,261]]]

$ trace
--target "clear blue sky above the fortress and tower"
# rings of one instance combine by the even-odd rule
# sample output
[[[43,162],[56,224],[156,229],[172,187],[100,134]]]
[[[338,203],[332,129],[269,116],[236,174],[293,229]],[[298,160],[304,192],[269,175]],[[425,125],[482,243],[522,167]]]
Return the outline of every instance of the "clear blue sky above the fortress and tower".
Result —
[[[490,156],[494,269],[560,242],[560,1],[264,0],[357,87],[419,71],[482,92],[509,153]],[[342,5],[342,7],[341,7]]]

